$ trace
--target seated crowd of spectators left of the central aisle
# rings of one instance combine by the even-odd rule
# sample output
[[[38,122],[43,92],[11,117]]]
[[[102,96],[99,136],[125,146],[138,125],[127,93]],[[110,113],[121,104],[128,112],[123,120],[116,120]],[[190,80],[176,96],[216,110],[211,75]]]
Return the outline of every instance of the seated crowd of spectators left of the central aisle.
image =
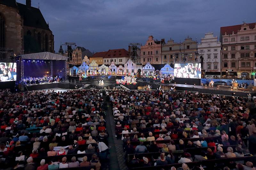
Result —
[[[97,90],[0,90],[0,168],[102,169],[108,162],[106,109]]]

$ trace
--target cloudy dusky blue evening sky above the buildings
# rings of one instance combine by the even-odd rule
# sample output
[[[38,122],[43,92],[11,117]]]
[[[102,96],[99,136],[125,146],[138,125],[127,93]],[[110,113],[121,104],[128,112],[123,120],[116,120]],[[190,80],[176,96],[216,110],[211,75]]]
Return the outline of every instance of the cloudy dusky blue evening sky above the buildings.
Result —
[[[16,0],[25,4],[26,0]],[[91,52],[128,49],[129,43],[170,38],[182,42],[220,27],[256,22],[255,0],[32,0],[60,42],[75,42]]]

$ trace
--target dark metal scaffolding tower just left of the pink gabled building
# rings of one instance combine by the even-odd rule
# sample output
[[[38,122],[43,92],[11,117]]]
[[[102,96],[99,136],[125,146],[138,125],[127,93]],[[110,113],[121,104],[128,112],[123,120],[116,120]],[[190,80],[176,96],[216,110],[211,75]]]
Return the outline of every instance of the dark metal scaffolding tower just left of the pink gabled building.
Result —
[[[140,60],[140,43],[130,43],[129,44],[129,52],[130,52],[130,59],[132,62],[134,62],[136,65],[141,65]]]

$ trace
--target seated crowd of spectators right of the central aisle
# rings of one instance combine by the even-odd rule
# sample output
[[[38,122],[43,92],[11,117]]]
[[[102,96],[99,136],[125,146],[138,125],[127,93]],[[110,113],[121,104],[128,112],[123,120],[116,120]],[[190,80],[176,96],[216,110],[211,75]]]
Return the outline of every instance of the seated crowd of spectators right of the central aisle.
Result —
[[[109,91],[107,98],[129,167],[183,163],[187,170],[188,162],[256,154],[256,101],[161,90]],[[214,169],[255,169],[255,157],[247,160]]]

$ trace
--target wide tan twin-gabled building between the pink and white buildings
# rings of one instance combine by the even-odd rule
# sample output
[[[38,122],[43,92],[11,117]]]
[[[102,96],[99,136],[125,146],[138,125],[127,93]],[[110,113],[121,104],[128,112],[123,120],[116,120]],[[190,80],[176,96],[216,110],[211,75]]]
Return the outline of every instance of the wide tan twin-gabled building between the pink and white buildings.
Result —
[[[173,39],[162,46],[161,63],[173,64],[174,61],[195,61],[197,42],[187,37],[182,43],[176,43]]]

